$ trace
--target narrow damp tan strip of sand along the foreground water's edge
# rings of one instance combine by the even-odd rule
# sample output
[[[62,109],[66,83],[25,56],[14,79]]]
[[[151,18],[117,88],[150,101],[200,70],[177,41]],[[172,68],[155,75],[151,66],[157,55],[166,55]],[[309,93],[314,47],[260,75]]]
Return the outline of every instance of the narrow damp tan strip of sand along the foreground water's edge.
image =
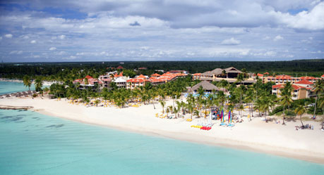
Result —
[[[32,109],[31,109],[32,110]],[[51,117],[59,117],[57,115],[52,114],[51,112],[47,112],[45,110],[33,110],[34,112],[38,112],[42,115],[48,115]],[[127,131],[127,132],[133,132],[136,134],[143,134],[145,136],[156,136],[160,138],[169,138],[169,139],[174,139],[174,140],[179,140],[179,141],[186,141],[190,143],[196,143],[196,144],[203,144],[203,145],[210,145],[210,146],[215,146],[215,147],[222,147],[222,148],[231,148],[235,150],[243,150],[243,151],[248,151],[251,153],[261,153],[261,154],[266,154],[266,155],[275,155],[275,156],[280,156],[280,157],[285,157],[285,158],[292,158],[296,160],[304,160],[307,162],[313,162],[313,163],[318,163],[318,164],[324,164],[324,157],[317,157],[317,153],[313,152],[308,152],[308,153],[299,153],[299,151],[302,150],[289,150],[285,148],[273,148],[271,145],[256,145],[253,143],[242,143],[238,141],[232,140],[232,139],[220,139],[220,141],[206,141],[206,139],[209,139],[209,137],[205,136],[198,136],[198,137],[191,137],[189,138],[188,135],[186,134],[181,134],[178,133],[174,135],[172,132],[164,131],[164,134],[160,134],[159,131],[148,131],[148,130],[143,130],[143,129],[131,129],[131,128],[126,128],[126,127],[116,127],[114,125],[107,125],[107,124],[100,124],[100,123],[94,123],[94,122],[85,122],[80,119],[71,119],[69,117],[59,117],[63,119],[68,119],[73,122],[80,122],[83,124],[90,124],[90,125],[95,125],[99,127],[108,127],[109,129],[116,129],[119,131]],[[201,138],[203,137],[203,138]],[[204,138],[205,137],[205,138]],[[258,146],[261,146],[260,148]],[[263,148],[262,148],[263,147]],[[277,150],[277,149],[283,149],[283,150]],[[296,153],[299,153],[296,155]],[[313,154],[313,156],[309,156],[306,154]]]

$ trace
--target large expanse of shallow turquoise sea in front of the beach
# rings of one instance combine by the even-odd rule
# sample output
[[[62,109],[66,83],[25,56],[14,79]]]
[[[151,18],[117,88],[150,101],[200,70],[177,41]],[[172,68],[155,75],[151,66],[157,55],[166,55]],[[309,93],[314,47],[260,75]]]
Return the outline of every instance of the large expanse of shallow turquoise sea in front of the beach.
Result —
[[[304,175],[324,164],[0,110],[0,174]]]

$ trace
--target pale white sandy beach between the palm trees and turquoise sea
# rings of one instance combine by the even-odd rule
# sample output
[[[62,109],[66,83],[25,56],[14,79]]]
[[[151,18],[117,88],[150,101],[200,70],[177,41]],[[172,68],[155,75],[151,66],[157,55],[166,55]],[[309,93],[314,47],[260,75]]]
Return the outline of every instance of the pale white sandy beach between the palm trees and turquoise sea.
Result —
[[[142,105],[139,108],[86,107],[73,105],[65,101],[48,98],[2,98],[0,105],[33,106],[35,111],[45,115],[63,117],[78,122],[97,124],[115,129],[135,131],[141,134],[176,138],[195,143],[220,145],[259,153],[268,153],[284,157],[324,164],[324,132],[320,131],[320,122],[304,122],[314,125],[314,129],[299,129],[299,120],[287,122],[286,126],[265,123],[263,117],[255,117],[251,122],[244,117],[244,122],[235,127],[220,127],[219,121],[213,120],[214,127],[210,131],[192,128],[191,125],[208,122],[208,119],[193,119],[186,122],[185,118],[160,119],[155,117],[162,112],[160,104]],[[172,102],[167,102],[172,105]],[[237,114],[237,112],[236,112]]]

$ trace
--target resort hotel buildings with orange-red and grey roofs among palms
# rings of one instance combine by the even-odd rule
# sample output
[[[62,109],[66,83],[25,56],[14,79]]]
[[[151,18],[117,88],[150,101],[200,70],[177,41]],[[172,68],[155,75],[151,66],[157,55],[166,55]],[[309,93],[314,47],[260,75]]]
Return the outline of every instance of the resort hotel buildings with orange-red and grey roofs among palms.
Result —
[[[144,67],[141,68],[143,69]],[[123,67],[119,66],[117,67],[117,69],[123,69]],[[124,76],[123,72],[117,73],[116,71],[114,71],[100,75],[98,79],[87,75],[83,79],[74,80],[73,83],[79,83],[80,89],[85,89],[85,86],[88,86],[88,88],[91,87],[92,89],[103,89],[104,87],[109,88],[109,84],[114,82],[117,88],[133,90],[140,86],[145,86],[145,84],[147,84],[148,82],[150,82],[150,84],[152,85],[171,82],[178,77],[186,77],[187,73],[188,72],[185,70],[170,70],[169,72],[166,72],[164,74],[155,73],[151,74],[150,76],[140,74],[134,78],[130,78]],[[241,82],[237,81],[239,74],[244,74],[244,79]],[[201,84],[203,84],[206,88],[208,87],[207,90],[220,90],[216,86],[210,84],[210,82],[220,82],[222,80],[225,80],[230,84],[253,84],[257,79],[262,79],[263,83],[275,83],[275,85],[272,86],[272,94],[276,95],[277,97],[280,97],[280,89],[284,88],[284,84],[291,82],[293,88],[292,99],[298,100],[315,96],[315,94],[313,93],[313,84],[317,79],[324,79],[324,74],[320,78],[292,77],[285,74],[269,76],[268,72],[265,72],[264,74],[248,74],[236,69],[235,67],[228,67],[226,69],[216,68],[215,70],[193,74],[193,79],[199,79],[200,81],[202,81]],[[192,88],[191,91],[196,91],[197,87],[198,86],[195,86],[195,88]],[[225,89],[221,90],[225,91]]]

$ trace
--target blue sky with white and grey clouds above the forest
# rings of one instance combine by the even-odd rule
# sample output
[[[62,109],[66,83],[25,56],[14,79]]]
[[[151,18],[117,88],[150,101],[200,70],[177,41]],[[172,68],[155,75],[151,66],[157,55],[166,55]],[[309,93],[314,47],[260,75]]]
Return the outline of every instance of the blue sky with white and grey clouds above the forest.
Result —
[[[323,0],[1,0],[0,60],[324,58]]]

